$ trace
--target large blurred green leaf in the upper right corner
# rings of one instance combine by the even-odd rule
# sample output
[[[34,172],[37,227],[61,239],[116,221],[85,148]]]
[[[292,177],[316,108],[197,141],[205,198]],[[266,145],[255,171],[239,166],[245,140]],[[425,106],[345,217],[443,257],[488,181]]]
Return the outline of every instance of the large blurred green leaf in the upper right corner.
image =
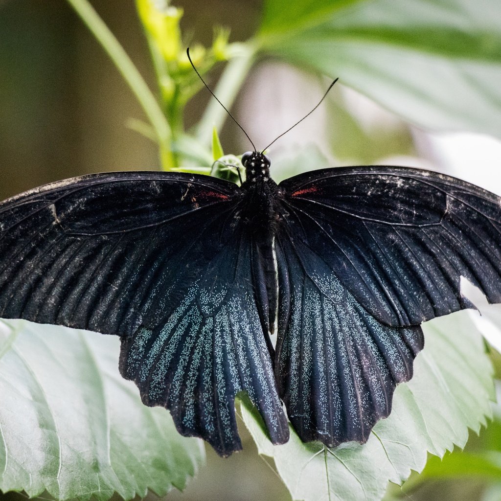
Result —
[[[331,1],[309,16],[280,6],[265,3],[265,53],[339,77],[420,126],[501,136],[498,0]]]

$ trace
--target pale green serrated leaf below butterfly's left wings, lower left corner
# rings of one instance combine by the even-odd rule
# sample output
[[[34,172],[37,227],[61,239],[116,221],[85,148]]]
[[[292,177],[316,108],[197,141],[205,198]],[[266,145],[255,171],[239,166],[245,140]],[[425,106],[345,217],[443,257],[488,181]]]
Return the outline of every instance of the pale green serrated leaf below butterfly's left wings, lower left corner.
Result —
[[[12,328],[7,327],[11,325]],[[0,324],[0,489],[105,501],[184,488],[203,462],[163,408],[118,373],[120,341],[25,321]]]

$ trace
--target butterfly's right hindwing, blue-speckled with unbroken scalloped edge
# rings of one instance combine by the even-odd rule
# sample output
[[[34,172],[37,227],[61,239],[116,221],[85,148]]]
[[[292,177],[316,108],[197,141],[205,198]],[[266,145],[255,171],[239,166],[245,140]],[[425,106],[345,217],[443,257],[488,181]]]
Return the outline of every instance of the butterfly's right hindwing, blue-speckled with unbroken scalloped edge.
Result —
[[[422,331],[370,315],[302,241],[299,219],[288,214],[279,234],[275,371],[289,418],[303,441],[365,442],[396,384],[412,377]]]

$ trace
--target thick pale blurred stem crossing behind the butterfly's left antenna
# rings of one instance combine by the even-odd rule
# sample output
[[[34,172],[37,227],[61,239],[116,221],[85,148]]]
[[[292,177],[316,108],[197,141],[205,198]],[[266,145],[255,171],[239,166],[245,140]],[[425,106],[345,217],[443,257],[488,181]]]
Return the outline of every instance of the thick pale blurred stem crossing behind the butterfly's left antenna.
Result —
[[[232,44],[233,46],[236,44]],[[240,87],[242,86],[250,67],[254,64],[256,58],[256,49],[250,44],[239,44],[238,55],[235,56],[224,68],[224,71],[217,83],[214,94],[221,102],[230,108],[235,100]],[[228,114],[222,106],[211,99],[205,112],[198,123],[195,135],[200,144],[210,146],[212,141],[212,131],[215,127],[220,132],[224,120]]]

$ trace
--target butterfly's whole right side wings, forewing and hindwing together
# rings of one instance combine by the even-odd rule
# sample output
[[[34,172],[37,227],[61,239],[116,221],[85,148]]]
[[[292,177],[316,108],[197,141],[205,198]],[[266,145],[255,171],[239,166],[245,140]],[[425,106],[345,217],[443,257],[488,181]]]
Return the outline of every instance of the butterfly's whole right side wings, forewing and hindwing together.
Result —
[[[419,325],[501,302],[501,200],[403,167],[348,167],[279,185],[276,377],[303,440],[365,441],[412,377]]]

